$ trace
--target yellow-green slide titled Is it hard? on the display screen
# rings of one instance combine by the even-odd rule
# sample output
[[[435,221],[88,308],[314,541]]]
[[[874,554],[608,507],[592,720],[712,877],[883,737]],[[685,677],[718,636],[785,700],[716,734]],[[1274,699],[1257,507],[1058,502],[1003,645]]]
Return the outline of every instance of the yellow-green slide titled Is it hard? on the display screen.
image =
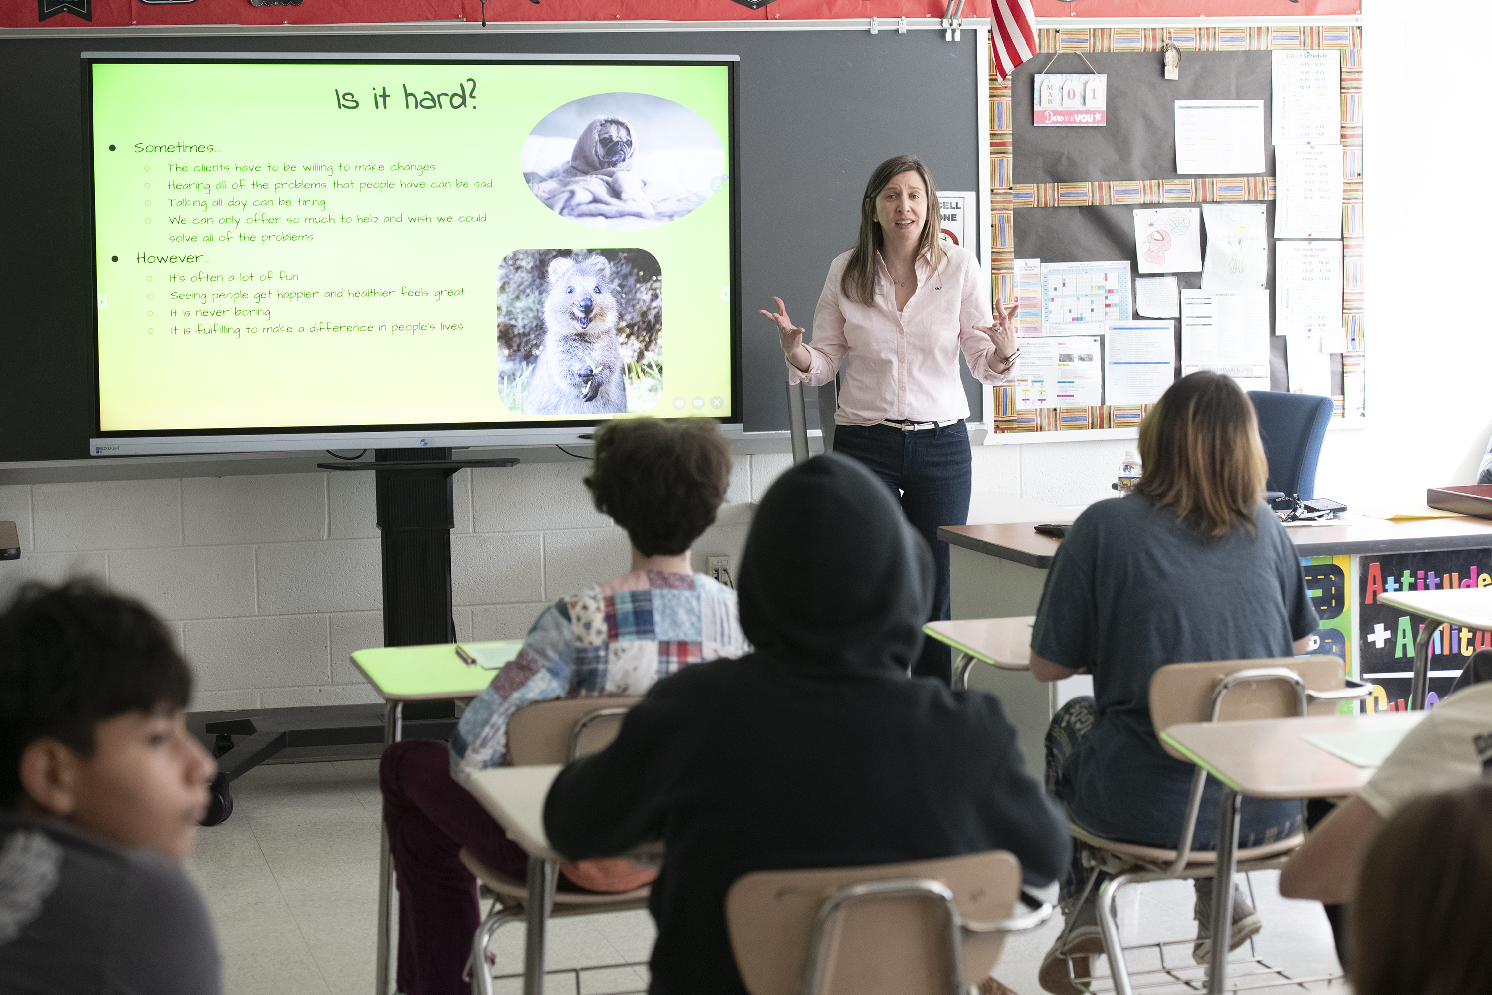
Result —
[[[731,410],[721,64],[94,61],[101,433]]]

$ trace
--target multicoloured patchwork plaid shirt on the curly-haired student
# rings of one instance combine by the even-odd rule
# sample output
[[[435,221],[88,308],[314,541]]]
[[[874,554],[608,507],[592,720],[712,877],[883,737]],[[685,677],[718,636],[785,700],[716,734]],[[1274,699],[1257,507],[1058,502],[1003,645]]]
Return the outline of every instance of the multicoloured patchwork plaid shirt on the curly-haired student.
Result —
[[[500,767],[507,721],[534,701],[640,695],[680,667],[750,652],[736,592],[703,573],[639,570],[545,609],[451,734],[455,777]]]

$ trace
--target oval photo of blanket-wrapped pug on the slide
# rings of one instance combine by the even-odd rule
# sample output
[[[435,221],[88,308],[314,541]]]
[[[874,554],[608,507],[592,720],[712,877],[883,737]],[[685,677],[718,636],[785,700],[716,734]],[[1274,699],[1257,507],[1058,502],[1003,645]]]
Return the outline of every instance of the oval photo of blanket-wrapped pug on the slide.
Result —
[[[524,181],[561,218],[652,228],[683,218],[725,182],[725,151],[704,118],[652,94],[571,100],[524,140]]]

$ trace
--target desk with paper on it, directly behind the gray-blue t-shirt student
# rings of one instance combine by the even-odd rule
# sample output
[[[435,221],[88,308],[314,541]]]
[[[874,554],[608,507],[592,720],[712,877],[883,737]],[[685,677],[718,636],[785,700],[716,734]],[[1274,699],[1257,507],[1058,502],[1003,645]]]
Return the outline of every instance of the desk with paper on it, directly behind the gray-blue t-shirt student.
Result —
[[[1189,722],[1173,725],[1161,734],[1161,738],[1222,782],[1217,812],[1217,880],[1231,882],[1238,865],[1241,797],[1331,798],[1353,794],[1373,777],[1376,768],[1349,764],[1301,737],[1319,732],[1402,732],[1423,718],[1423,712],[1392,712],[1373,716]],[[1213,888],[1213,922],[1219,925],[1213,935],[1207,991],[1223,992],[1228,985],[1232,889]]]

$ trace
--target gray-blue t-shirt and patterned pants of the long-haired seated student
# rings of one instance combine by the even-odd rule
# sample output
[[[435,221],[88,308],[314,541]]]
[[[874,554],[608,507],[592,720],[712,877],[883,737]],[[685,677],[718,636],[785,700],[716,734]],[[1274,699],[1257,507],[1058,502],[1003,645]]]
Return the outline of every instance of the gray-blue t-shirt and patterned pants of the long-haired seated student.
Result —
[[[1041,592],[1031,649],[1094,674],[1098,722],[1064,768],[1071,817],[1103,837],[1174,847],[1192,765],[1150,726],[1150,676],[1167,664],[1291,656],[1316,631],[1295,544],[1259,504],[1259,536],[1209,542],[1143,495],[1100,501],[1067,531]],[[1216,846],[1209,780],[1194,835]],[[1300,817],[1294,801],[1244,801],[1240,844],[1258,846]]]

